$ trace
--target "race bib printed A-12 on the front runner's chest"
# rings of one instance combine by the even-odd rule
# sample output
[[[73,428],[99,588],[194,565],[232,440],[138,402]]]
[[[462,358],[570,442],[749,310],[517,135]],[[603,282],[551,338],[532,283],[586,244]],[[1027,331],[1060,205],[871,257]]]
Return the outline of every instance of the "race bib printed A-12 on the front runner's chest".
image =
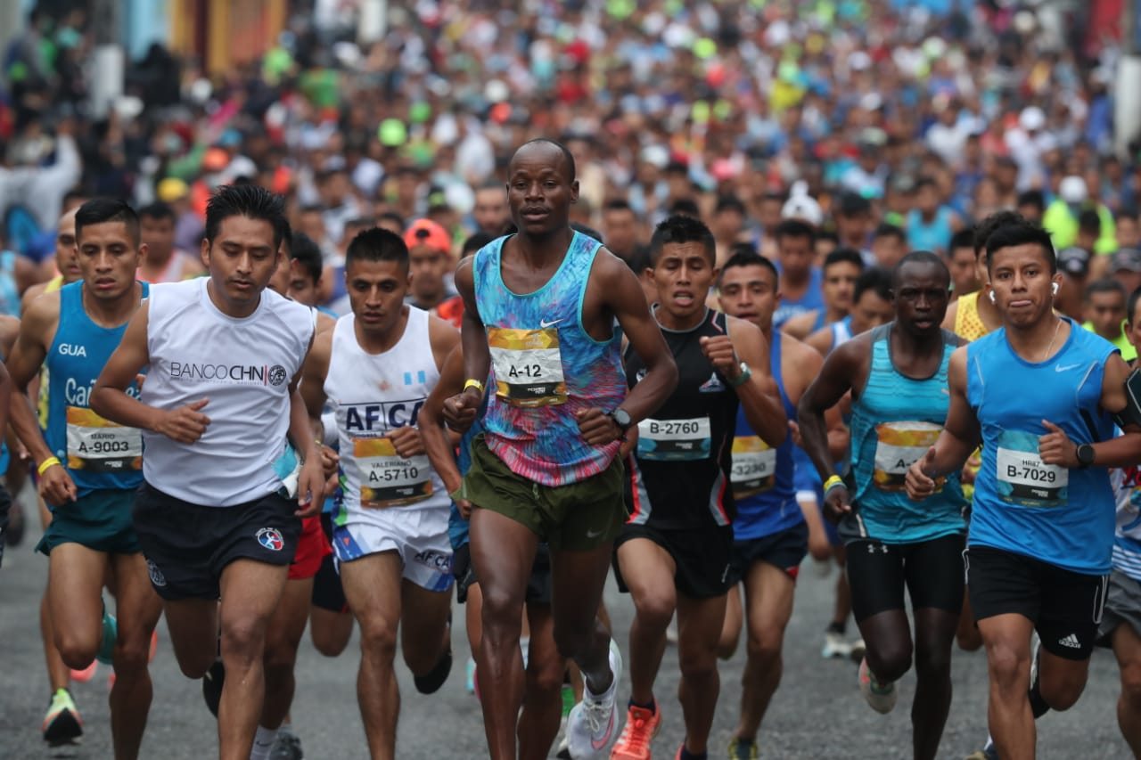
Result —
[[[565,404],[559,332],[488,328],[487,343],[495,371],[495,395],[512,406]]]

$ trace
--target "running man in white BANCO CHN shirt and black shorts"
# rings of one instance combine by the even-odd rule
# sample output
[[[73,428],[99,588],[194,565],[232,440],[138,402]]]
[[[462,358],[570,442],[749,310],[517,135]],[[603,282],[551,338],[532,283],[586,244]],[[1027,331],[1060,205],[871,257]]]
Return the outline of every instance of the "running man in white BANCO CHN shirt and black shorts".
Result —
[[[220,188],[207,205],[209,278],[152,289],[91,397],[96,413],[144,430],[135,532],[187,676],[215,666],[221,620],[226,758],[266,757],[273,744],[276,731],[257,727],[266,630],[299,517],[324,496],[297,390],[314,312],[266,290],[285,229],[281,197],[252,185]],[[144,366],[141,401],[132,399],[124,389]],[[305,459],[299,471],[286,434]]]

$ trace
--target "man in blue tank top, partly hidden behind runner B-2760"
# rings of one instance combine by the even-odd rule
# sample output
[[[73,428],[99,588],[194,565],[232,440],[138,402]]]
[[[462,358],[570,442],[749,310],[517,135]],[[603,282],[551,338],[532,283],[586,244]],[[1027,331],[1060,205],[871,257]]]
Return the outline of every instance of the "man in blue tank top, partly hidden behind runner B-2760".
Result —
[[[752,322],[769,342],[769,365],[780,391],[790,423],[796,420],[796,402],[824,363],[823,357],[801,341],[772,329],[772,313],[780,301],[778,276],[772,264],[755,253],[737,254],[721,269],[718,290],[726,314]],[[839,436],[837,448],[847,445],[840,411],[828,412],[830,430]],[[793,592],[800,561],[809,542],[806,510],[796,500],[793,478],[793,436],[777,447],[768,446],[748,420],[738,412],[733,444],[733,490],[737,502],[734,522],[734,552],[725,625],[722,658],[733,656],[741,634],[742,617],[750,646],[742,677],[741,717],[729,744],[729,755],[753,757],[756,731],[766,709],[780,684],[785,626],[792,616]],[[841,451],[833,451],[837,458]],[[816,516],[816,504],[810,506]],[[825,557],[831,552],[825,545]],[[742,612],[738,582],[745,585],[746,608]]]

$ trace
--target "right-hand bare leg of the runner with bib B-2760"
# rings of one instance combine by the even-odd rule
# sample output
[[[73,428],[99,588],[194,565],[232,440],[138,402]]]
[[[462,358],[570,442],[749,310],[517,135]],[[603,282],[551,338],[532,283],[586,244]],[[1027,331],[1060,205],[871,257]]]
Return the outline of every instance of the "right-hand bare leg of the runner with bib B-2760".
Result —
[[[717,645],[725,620],[725,595],[693,599],[678,595],[678,663],[681,682],[678,698],[686,720],[686,750],[706,751],[717,712],[721,679],[717,672]]]

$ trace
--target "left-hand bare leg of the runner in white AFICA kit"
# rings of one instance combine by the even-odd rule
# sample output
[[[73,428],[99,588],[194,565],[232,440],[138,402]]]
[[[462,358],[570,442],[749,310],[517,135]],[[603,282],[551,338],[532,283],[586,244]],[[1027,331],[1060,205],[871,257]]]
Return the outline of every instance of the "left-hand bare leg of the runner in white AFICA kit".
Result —
[[[341,565],[345,598],[361,625],[357,701],[373,760],[391,760],[396,755],[400,692],[393,666],[400,624],[403,573],[404,565],[395,551],[367,555]]]

